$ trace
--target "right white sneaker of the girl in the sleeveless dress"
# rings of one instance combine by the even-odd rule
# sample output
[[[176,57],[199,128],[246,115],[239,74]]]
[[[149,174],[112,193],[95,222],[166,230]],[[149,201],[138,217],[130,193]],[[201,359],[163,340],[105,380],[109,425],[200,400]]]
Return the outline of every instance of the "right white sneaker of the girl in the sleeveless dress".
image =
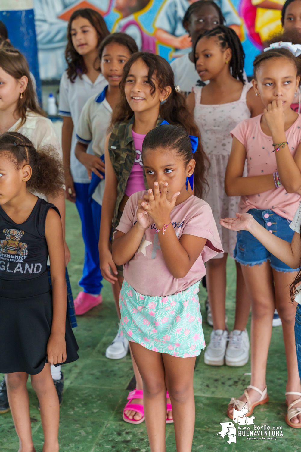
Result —
[[[229,334],[226,350],[227,366],[244,366],[249,361],[249,336],[247,330],[233,330]]]

